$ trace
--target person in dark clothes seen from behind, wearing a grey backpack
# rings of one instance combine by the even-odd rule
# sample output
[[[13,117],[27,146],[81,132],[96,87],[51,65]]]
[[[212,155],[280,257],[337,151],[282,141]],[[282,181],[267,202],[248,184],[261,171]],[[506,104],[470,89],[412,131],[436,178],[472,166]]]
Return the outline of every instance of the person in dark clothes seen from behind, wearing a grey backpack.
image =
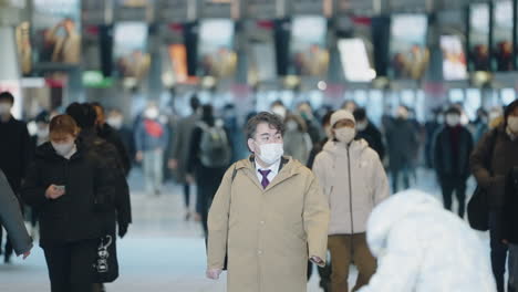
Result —
[[[196,212],[207,237],[208,210],[225,170],[230,165],[232,149],[228,134],[216,125],[211,105],[201,107],[201,121],[193,132],[187,163],[188,180],[196,181]]]

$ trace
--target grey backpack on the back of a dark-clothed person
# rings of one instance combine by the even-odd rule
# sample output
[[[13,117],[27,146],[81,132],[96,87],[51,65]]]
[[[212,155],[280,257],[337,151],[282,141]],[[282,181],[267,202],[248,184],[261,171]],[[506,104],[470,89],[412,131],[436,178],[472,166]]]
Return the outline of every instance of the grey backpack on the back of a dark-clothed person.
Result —
[[[201,124],[201,139],[199,144],[199,160],[205,167],[227,167],[231,159],[230,144],[222,127],[209,127]]]

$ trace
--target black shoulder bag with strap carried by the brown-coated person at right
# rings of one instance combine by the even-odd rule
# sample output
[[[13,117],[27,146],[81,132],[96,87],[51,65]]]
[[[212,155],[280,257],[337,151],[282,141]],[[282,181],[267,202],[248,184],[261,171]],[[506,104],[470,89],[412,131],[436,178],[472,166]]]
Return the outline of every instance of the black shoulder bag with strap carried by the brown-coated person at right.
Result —
[[[498,132],[494,129],[490,135],[490,147],[485,161],[485,167],[489,169],[489,174],[491,173],[491,156],[495,150]],[[467,205],[467,216],[469,226],[473,229],[479,231],[489,230],[489,195],[487,194],[487,189],[480,187],[479,185],[473,192],[473,196]]]

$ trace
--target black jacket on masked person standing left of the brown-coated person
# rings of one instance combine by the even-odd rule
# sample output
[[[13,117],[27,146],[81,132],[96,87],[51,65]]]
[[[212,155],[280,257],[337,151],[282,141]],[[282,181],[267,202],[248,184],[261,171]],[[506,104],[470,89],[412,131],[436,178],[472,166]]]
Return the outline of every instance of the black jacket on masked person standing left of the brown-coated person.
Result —
[[[467,179],[470,175],[469,157],[474,148],[472,133],[465,128],[458,128],[458,149],[454,153],[452,146],[452,127],[443,127],[435,137],[434,168],[439,178],[460,177]]]

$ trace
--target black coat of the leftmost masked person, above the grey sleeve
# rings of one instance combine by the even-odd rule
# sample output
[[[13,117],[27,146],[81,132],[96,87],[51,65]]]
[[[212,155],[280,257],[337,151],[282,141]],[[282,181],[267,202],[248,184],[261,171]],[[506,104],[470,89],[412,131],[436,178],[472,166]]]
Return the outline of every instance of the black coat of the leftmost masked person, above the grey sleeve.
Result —
[[[0,169],[18,195],[25,176],[31,154],[34,152],[27,124],[13,117],[7,123],[0,122]]]

